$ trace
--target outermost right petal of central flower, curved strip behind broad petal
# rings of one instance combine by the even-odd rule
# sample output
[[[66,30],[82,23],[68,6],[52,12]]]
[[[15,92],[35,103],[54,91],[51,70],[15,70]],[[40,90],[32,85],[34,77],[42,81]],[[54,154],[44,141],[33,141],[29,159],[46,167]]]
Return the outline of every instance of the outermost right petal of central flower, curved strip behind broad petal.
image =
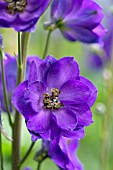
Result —
[[[97,98],[97,94],[98,94],[97,88],[93,85],[91,81],[89,81],[85,77],[80,76],[80,81],[85,83],[91,90],[91,96],[87,101],[88,105],[91,107]]]

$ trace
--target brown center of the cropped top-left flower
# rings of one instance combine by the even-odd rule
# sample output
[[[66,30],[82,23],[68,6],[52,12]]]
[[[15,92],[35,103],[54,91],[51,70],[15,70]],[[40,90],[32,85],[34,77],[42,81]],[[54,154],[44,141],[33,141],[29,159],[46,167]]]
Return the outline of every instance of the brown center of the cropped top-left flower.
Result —
[[[25,10],[27,5],[27,0],[4,0],[8,2],[7,4],[7,12],[9,14],[16,14],[17,12],[22,13]]]

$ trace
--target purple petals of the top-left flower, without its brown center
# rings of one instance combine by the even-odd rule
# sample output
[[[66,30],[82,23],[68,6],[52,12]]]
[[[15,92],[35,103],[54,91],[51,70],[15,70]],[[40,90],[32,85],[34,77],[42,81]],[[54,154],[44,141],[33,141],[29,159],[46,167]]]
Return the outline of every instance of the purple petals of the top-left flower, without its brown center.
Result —
[[[13,15],[7,12],[8,3],[0,0],[0,27],[12,27],[22,32],[34,31],[38,19],[49,3],[50,0],[27,0],[25,10]]]

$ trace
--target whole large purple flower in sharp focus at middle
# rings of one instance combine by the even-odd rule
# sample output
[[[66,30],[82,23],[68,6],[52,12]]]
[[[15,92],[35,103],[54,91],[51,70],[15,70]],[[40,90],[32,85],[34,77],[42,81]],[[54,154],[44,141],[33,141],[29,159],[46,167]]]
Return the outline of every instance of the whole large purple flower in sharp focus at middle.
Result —
[[[96,96],[97,89],[80,76],[73,57],[48,56],[31,63],[28,80],[16,88],[12,102],[25,117],[33,141],[59,135],[81,138],[92,123],[90,107]]]

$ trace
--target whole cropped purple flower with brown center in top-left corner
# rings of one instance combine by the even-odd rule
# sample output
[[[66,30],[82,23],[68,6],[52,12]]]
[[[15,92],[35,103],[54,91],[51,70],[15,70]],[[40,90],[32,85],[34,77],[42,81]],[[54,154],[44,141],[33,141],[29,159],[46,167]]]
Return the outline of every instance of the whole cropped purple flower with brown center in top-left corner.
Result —
[[[33,31],[50,0],[0,0],[0,27]]]

